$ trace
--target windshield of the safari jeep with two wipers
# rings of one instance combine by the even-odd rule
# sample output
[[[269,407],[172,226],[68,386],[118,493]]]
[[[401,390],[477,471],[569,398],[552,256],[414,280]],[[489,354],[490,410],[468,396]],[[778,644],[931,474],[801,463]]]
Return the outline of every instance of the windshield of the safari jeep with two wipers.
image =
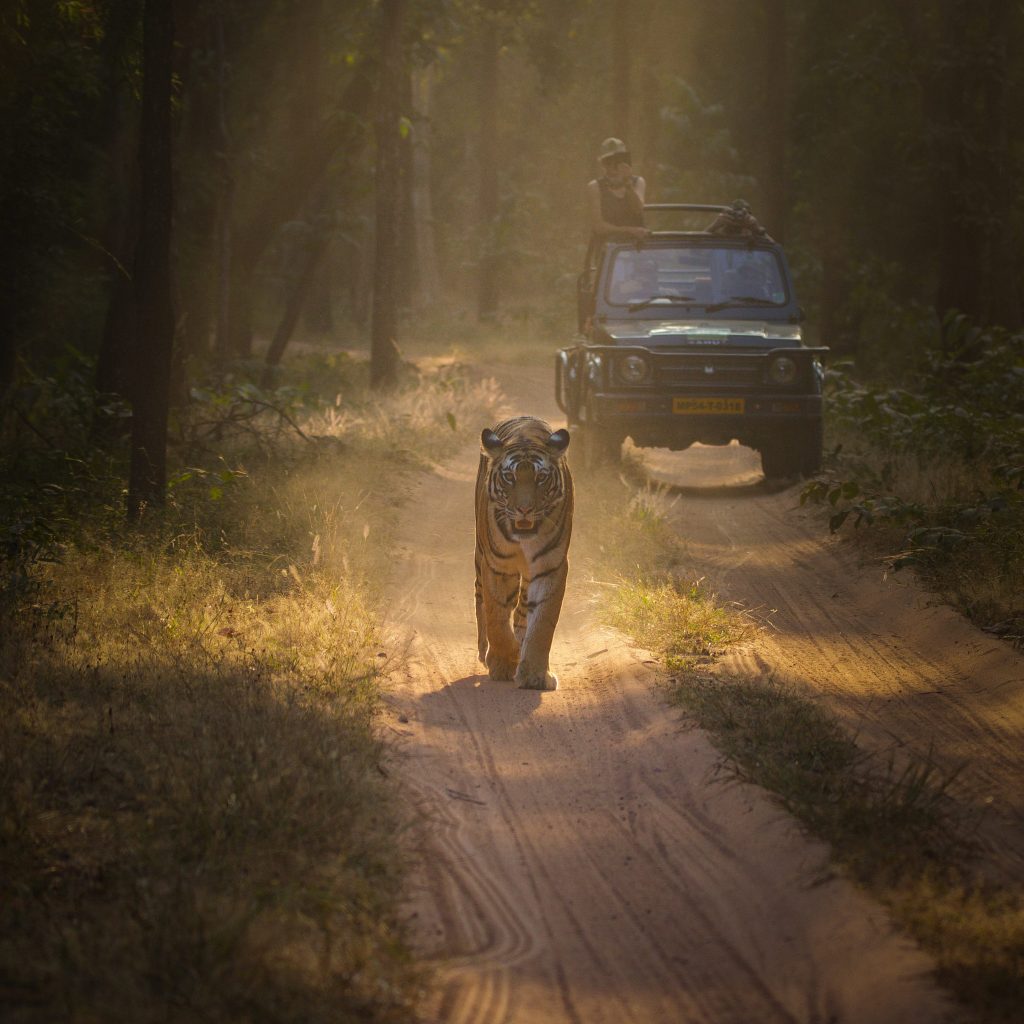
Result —
[[[699,305],[709,311],[730,306],[782,306],[785,279],[767,249],[735,246],[624,248],[612,255],[605,301],[629,311]]]

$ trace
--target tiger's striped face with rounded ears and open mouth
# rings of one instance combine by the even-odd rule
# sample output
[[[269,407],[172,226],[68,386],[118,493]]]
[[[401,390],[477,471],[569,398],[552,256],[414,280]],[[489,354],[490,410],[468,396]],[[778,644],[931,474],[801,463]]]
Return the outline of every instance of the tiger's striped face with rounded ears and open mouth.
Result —
[[[513,442],[508,447],[489,430],[481,440],[490,459],[487,495],[499,528],[509,540],[532,537],[565,497],[559,463],[568,447],[568,431],[556,430],[544,443]]]

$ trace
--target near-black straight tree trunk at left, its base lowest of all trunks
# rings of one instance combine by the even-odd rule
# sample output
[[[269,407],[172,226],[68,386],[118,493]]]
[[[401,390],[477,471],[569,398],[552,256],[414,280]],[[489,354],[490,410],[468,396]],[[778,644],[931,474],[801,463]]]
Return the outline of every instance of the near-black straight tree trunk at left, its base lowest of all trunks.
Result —
[[[168,0],[142,15],[139,237],[135,252],[136,336],[128,515],[163,505],[167,489],[174,308],[171,300],[171,78],[174,17]]]

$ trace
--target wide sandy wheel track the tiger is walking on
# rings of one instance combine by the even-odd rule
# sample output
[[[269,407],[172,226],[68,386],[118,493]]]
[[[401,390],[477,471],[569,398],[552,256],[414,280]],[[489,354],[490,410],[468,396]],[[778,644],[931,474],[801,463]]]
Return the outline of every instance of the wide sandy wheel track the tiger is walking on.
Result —
[[[509,379],[512,379],[509,374]],[[508,383],[507,381],[505,383]],[[521,395],[546,375],[519,372]],[[551,415],[534,400],[517,412]],[[930,962],[760,791],[724,780],[570,572],[553,693],[480,675],[476,451],[412,496],[387,721],[424,825],[410,915],[444,1024],[939,1021]]]

